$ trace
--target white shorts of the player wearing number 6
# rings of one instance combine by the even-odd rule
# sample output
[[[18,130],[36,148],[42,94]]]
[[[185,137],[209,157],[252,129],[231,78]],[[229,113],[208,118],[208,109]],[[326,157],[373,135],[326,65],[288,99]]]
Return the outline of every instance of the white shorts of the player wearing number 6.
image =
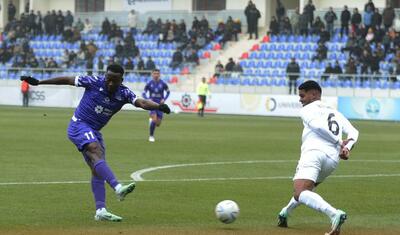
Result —
[[[338,162],[321,151],[308,151],[301,155],[293,180],[307,179],[321,183],[336,169]]]

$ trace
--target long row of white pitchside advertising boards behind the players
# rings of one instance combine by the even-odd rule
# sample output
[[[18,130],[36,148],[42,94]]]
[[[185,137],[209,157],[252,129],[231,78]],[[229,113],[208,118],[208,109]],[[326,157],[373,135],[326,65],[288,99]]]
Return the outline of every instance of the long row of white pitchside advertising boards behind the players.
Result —
[[[84,89],[72,86],[31,86],[30,106],[76,107]],[[139,93],[136,93],[139,95]],[[336,97],[322,99],[333,108],[337,108]],[[167,104],[175,113],[196,113],[199,98],[190,92],[171,92]],[[0,104],[22,105],[19,86],[0,87]],[[255,95],[218,93],[207,97],[205,113],[240,114],[298,117],[301,104],[298,96],[293,95]],[[125,110],[138,110],[133,105],[125,105]],[[398,109],[400,110],[400,109]]]

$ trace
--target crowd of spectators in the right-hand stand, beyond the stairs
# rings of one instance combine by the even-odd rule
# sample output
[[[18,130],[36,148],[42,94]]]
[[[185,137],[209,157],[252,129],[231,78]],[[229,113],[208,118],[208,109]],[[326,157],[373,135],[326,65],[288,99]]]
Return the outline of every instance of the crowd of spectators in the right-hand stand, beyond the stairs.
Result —
[[[335,22],[340,22],[340,36],[348,35],[342,52],[348,52],[349,57],[343,68],[338,61],[335,65],[328,63],[325,74],[357,74],[357,67],[360,68],[361,74],[379,74],[380,62],[384,61],[388,54],[394,54],[390,60],[389,73],[400,74],[400,35],[393,28],[396,15],[390,5],[381,14],[373,1],[369,0],[362,15],[357,8],[351,13],[348,7],[344,6],[340,16],[330,7],[323,19],[319,16],[314,17],[316,8],[312,0],[309,0],[302,14],[296,9],[290,19],[281,7],[278,6],[277,17],[272,17],[268,33],[319,35],[318,48],[313,59],[320,61],[327,59],[328,48],[325,43],[335,35]],[[327,78],[326,75],[322,76],[322,79]],[[395,80],[396,76],[391,78]]]

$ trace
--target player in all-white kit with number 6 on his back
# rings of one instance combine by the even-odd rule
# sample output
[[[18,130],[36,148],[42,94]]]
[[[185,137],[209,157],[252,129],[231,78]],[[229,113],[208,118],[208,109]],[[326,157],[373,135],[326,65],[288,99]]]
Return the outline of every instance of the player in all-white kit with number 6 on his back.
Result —
[[[321,87],[315,81],[306,81],[299,86],[303,105],[300,116],[304,125],[301,157],[293,178],[294,194],[279,213],[278,226],[287,227],[289,214],[304,204],[330,218],[331,231],[325,235],[339,235],[340,227],[347,218],[346,213],[332,207],[314,189],[332,174],[340,159],[349,158],[350,150],[357,142],[358,131],[343,114],[324,105],[321,94]],[[347,139],[342,140],[343,134],[347,135]]]

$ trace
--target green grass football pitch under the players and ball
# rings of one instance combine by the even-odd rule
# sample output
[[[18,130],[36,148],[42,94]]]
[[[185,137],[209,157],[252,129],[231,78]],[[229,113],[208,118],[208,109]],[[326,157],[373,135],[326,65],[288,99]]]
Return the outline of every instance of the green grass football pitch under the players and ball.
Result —
[[[290,217],[289,229],[276,227],[277,213],[292,193],[290,177],[301,144],[299,118],[171,114],[156,129],[156,142],[149,143],[148,115],[134,111],[118,113],[102,130],[107,160],[119,180],[127,182],[133,172],[150,167],[199,165],[144,173],[148,181],[137,182],[123,202],[107,186],[108,209],[124,220],[95,222],[90,171],[66,135],[73,111],[0,107],[0,234],[328,230],[328,218],[304,206]],[[360,139],[351,160],[342,161],[317,192],[348,213],[342,234],[400,234],[400,125],[353,124]],[[224,199],[235,200],[241,210],[230,225],[214,216],[215,205]]]

